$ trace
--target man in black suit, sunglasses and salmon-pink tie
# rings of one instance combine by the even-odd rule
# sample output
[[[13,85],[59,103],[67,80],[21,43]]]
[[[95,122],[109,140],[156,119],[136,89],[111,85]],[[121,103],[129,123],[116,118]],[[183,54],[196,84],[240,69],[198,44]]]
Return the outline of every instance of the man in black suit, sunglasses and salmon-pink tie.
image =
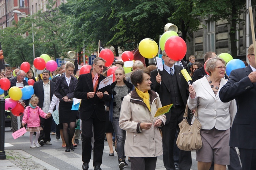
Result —
[[[110,85],[99,89],[99,83],[105,78],[102,76],[105,60],[95,58],[93,61],[93,71],[79,76],[74,97],[82,99],[80,106],[80,119],[82,120],[82,160],[83,169],[89,168],[91,158],[91,137],[94,127],[94,159],[95,170],[101,170],[102,154],[104,149],[104,134],[106,111],[104,102],[111,101]],[[104,94],[104,92],[108,94]]]

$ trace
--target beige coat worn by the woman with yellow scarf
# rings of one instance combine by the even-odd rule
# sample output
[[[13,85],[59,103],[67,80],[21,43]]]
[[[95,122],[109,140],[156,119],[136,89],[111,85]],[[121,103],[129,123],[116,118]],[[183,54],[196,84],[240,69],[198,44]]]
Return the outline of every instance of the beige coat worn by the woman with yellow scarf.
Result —
[[[126,130],[125,155],[130,157],[156,157],[163,154],[162,137],[158,127],[149,130],[141,129],[140,123],[151,123],[161,119],[163,126],[166,122],[164,114],[154,118],[158,108],[162,107],[159,95],[149,90],[151,101],[151,112],[146,107],[142,98],[138,96],[136,90],[124,97],[120,118],[120,128]]]

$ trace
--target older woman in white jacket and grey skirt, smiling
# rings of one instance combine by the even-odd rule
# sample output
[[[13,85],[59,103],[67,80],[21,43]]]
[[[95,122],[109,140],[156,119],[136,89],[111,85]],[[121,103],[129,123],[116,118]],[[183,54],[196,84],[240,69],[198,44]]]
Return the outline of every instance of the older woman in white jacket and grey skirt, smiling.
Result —
[[[222,58],[207,60],[205,76],[189,86],[188,107],[197,108],[202,148],[197,151],[198,170],[209,170],[214,161],[214,169],[226,170],[229,165],[229,134],[232,117],[236,114],[236,101],[223,103],[219,99],[219,89],[226,80],[225,61]]]

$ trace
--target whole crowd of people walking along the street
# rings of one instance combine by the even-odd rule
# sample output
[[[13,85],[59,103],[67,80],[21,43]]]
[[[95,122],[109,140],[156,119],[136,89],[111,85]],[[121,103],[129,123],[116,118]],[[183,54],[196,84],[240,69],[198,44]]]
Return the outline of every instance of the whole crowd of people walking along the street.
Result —
[[[99,83],[108,69],[104,59],[95,58],[90,73],[79,78],[74,75],[74,64],[68,62],[57,69],[51,80],[51,73],[44,70],[42,80],[33,85],[31,99],[20,101],[27,106],[21,124],[30,132],[30,148],[52,144],[53,125],[65,152],[74,151],[81,135],[84,170],[89,169],[92,151],[94,169],[101,170],[105,133],[109,156],[114,155],[112,135],[115,138],[117,166],[121,170],[128,167],[126,157],[132,170],[154,170],[160,155],[167,170],[189,170],[191,151],[177,149],[175,142],[180,131],[178,125],[188,106],[188,122],[191,123],[197,110],[202,125],[202,148],[196,153],[198,170],[225,170],[226,166],[230,170],[254,170],[256,136],[252,130],[256,126],[256,108],[251,104],[256,101],[254,55],[251,45],[247,55],[250,64],[233,70],[228,80],[225,80],[226,62],[215,52],[205,53],[204,61],[208,60],[205,68],[190,56],[187,67],[193,80],[189,85],[181,73],[183,67],[163,50],[162,71],[153,65],[145,68],[141,61],[135,61],[132,72],[125,74],[124,63],[117,61],[116,80],[100,89]],[[10,79],[11,87],[27,86],[26,73],[18,69],[14,72],[15,77],[6,68],[1,76]],[[27,78],[35,80],[31,71]],[[74,98],[81,99],[79,111],[71,109]],[[158,108],[170,104],[173,106],[169,112],[155,116]],[[58,126],[52,121],[55,106],[59,112]],[[11,114],[11,118],[15,132],[17,117]],[[80,125],[77,128],[79,120],[81,130]],[[242,166],[235,147],[239,148]]]

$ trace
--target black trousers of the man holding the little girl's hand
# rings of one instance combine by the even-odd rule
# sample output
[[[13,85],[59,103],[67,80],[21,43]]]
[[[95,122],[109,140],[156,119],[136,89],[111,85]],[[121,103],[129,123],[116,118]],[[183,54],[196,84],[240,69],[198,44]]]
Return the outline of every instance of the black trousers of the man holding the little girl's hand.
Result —
[[[43,130],[40,131],[40,136],[38,139],[38,142],[40,140],[44,140],[44,142],[51,141],[51,129],[52,129],[52,122],[53,118],[52,116],[48,119],[44,119],[40,117],[40,126],[43,128]]]

